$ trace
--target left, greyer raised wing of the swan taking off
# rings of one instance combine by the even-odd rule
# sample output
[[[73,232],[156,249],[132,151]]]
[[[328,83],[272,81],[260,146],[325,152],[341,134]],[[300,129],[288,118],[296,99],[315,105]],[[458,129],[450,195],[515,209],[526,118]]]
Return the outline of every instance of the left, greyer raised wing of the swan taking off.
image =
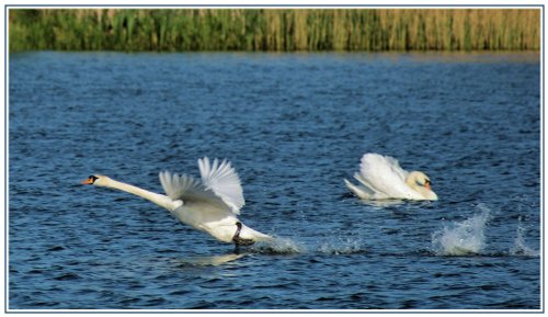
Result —
[[[191,176],[179,176],[176,173],[172,174],[169,171],[163,171],[160,172],[159,177],[163,190],[172,200],[181,200],[185,204],[199,202],[227,207],[220,197]]]

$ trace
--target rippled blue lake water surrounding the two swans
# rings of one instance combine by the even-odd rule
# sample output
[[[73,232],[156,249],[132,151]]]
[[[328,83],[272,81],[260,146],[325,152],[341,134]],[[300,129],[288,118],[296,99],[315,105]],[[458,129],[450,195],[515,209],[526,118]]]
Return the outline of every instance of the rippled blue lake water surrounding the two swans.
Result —
[[[541,309],[539,54],[23,53],[9,64],[9,309]],[[437,202],[346,190],[365,152]],[[233,246],[159,206],[227,158]],[[464,251],[463,251],[464,250]]]

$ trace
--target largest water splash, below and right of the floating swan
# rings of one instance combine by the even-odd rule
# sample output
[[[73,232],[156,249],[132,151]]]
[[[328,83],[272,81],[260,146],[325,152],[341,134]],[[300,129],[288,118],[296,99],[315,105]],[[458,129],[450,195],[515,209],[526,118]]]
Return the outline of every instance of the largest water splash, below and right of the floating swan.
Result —
[[[432,249],[438,256],[478,254],[486,247],[483,234],[490,210],[480,204],[481,213],[453,226],[445,226],[432,235]]]

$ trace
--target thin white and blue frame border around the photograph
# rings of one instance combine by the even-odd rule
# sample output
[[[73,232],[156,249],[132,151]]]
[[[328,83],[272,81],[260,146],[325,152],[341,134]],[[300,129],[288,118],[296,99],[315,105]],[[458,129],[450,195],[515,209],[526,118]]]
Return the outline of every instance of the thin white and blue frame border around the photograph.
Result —
[[[406,3],[407,1],[401,0],[401,1],[395,1],[395,0],[386,0],[386,1],[367,1],[367,3],[364,3],[363,1],[357,1],[357,0],[350,0],[350,1],[344,1],[343,3],[335,3],[333,1],[327,1],[327,0],[316,0],[316,1],[310,1],[310,0],[278,0],[275,2],[265,2],[265,1],[253,1],[253,0],[237,0],[237,1],[227,1],[227,0],[217,0],[217,1],[208,1],[207,3],[204,3],[203,1],[181,1],[181,0],[163,0],[161,3],[152,4],[139,1],[139,0],[119,0],[119,1],[85,1],[85,2],[80,2],[80,3],[75,3],[75,1],[61,1],[61,0],[52,0],[47,1],[47,3],[41,4],[39,2],[36,3],[37,1],[25,1],[25,0],[15,0],[15,1],[10,1],[9,3],[5,3],[8,5],[12,5],[10,8],[15,8],[19,5],[24,5],[27,7],[28,9],[32,8],[62,8],[62,5],[66,7],[71,7],[71,5],[78,5],[79,8],[85,9],[85,8],[98,8],[98,7],[107,7],[107,8],[125,8],[125,9],[130,9],[130,8],[136,8],[136,9],[144,9],[145,7],[147,8],[162,8],[162,9],[169,9],[169,8],[181,8],[182,5],[196,5],[201,8],[208,8],[213,7],[215,9],[233,9],[238,7],[246,7],[249,9],[253,8],[276,8],[276,9],[298,9],[298,8],[308,8],[308,9],[315,9],[315,8],[326,8],[328,7],[329,9],[334,9],[336,7],[344,7],[346,9],[351,8],[398,8],[402,7],[406,9],[430,9],[430,8],[436,8],[436,9],[463,9],[464,5],[470,5],[472,9],[489,9],[489,8],[515,8],[515,5],[545,5],[544,1],[480,1],[478,3],[470,3],[470,2],[465,2],[465,1],[445,1],[445,3],[433,3],[434,1],[413,1],[413,3]],[[45,2],[45,1],[44,1]],[[518,3],[516,3],[518,2]],[[5,5],[4,4],[4,5]],[[89,5],[89,7],[88,7]],[[275,7],[271,7],[275,5]],[[494,7],[496,5],[496,7]],[[401,8],[400,7],[400,8]],[[526,9],[526,8],[524,8]],[[4,27],[5,24],[5,19],[7,15],[5,13],[8,10],[4,7],[4,14],[3,14],[3,20],[2,20],[2,32],[3,34],[8,34]],[[544,13],[544,10],[543,10]],[[431,309],[409,309],[409,310],[399,310],[399,309],[386,309],[386,310],[379,310],[379,309],[310,309],[310,310],[302,310],[302,309],[241,309],[241,310],[236,310],[236,309],[204,309],[204,310],[192,310],[192,309],[9,309],[8,308],[8,303],[3,303],[7,298],[5,291],[8,288],[1,287],[0,290],[0,295],[2,298],[2,303],[4,304],[2,307],[2,312],[8,308],[8,313],[23,313],[23,314],[16,314],[18,316],[31,316],[31,315],[36,315],[39,314],[42,316],[48,316],[48,315],[58,315],[58,314],[64,314],[64,313],[72,313],[72,314],[87,314],[87,315],[100,315],[100,314],[105,314],[105,313],[114,313],[117,316],[135,316],[135,314],[150,314],[150,313],[160,313],[160,314],[173,314],[173,313],[184,313],[185,316],[204,316],[204,315],[209,315],[209,314],[215,314],[219,315],[219,313],[222,314],[287,314],[292,316],[306,316],[310,314],[378,314],[381,313],[385,316],[393,316],[393,315],[401,315],[401,314],[411,314],[411,315],[437,315],[438,314],[478,314],[481,313],[481,315],[500,315],[504,314],[505,316],[509,315],[521,315],[523,313],[525,314],[532,314],[532,313],[541,313],[545,309],[545,285],[544,285],[544,273],[545,273],[545,261],[544,261],[544,254],[545,254],[545,244],[544,244],[544,194],[545,194],[545,185],[544,185],[544,167],[546,163],[546,156],[544,155],[544,141],[545,141],[545,128],[544,128],[544,123],[545,123],[545,100],[544,100],[544,88],[545,88],[545,80],[544,80],[544,57],[545,57],[545,23],[544,23],[545,16],[543,15],[540,19],[540,22],[543,23],[540,30],[541,30],[541,48],[540,48],[540,133],[541,133],[541,138],[540,138],[540,174],[541,174],[541,184],[540,184],[540,190],[541,190],[541,196],[540,196],[540,309],[527,309],[527,310],[514,310],[514,309],[447,309],[447,310],[431,310]],[[9,58],[9,53],[4,49],[3,45],[5,42],[2,42],[2,55],[4,57],[4,60]],[[8,54],[8,56],[5,56]],[[9,91],[5,89],[9,84],[9,69],[5,68],[5,64],[2,63],[2,69],[4,71],[4,76],[2,77],[2,81],[7,79],[4,84],[2,84],[3,88],[3,97],[5,100],[8,100]],[[9,113],[9,105],[4,104],[4,111],[5,113]],[[4,112],[1,112],[1,122],[2,122],[2,128],[1,128],[1,137],[0,137],[0,144],[3,149],[9,146],[9,139],[7,138],[5,132],[8,128],[8,118],[5,118]],[[2,156],[2,177],[5,180],[4,182],[0,183],[0,192],[2,192],[2,202],[5,202],[5,206],[8,206],[8,193],[5,191],[4,185],[8,184],[8,172],[9,170],[7,169],[7,161],[5,159],[8,158],[8,152],[5,152],[5,156]],[[7,239],[8,238],[8,233],[5,230],[7,226],[4,222],[9,222],[9,215],[8,212],[4,211],[5,213],[5,218],[1,217],[1,227],[2,227],[2,238]],[[8,244],[9,241],[5,241]],[[9,256],[5,250],[5,244],[4,244],[4,252],[1,253],[1,261],[2,263],[5,263],[4,261],[9,260]],[[2,274],[1,282],[3,285],[7,285],[7,280],[8,279],[8,268],[4,268],[4,274]],[[7,285],[9,286],[9,285]]]

